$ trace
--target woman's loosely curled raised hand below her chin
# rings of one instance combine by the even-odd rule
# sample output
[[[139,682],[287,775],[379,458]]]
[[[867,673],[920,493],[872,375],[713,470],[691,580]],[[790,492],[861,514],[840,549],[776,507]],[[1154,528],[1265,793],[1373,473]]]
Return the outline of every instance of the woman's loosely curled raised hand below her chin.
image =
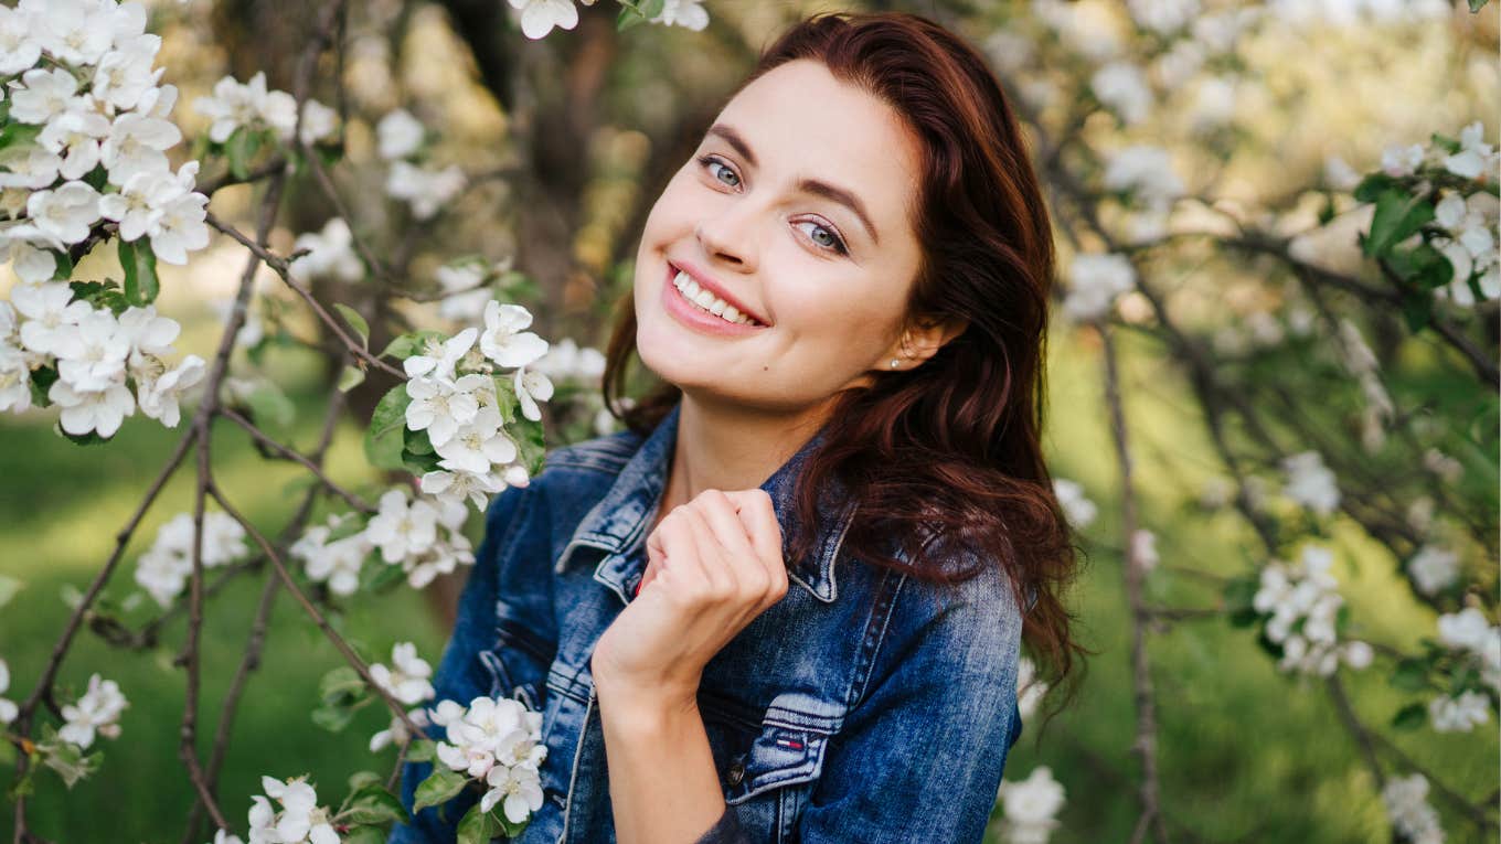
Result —
[[[594,646],[600,700],[692,704],[710,658],[784,595],[782,527],[763,490],[674,508],[647,536],[639,593]]]

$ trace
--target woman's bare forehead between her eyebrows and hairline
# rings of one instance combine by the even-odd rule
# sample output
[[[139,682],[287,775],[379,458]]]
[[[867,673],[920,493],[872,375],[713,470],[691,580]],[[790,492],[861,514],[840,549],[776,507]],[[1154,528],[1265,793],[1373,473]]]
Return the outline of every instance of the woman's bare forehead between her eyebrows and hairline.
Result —
[[[895,108],[815,60],[779,65],[725,105],[720,123],[773,179],[812,176],[859,194],[881,228],[917,195],[919,144]]]

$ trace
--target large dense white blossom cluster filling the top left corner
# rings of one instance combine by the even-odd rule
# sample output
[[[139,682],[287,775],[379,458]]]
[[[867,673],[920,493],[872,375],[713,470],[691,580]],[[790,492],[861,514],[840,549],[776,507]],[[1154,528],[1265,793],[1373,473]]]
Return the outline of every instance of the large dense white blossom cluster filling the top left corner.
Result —
[[[146,33],[146,8],[116,0],[23,0],[0,11],[0,74],[11,81],[6,122],[21,143],[0,152],[0,188],[23,189],[24,215],[0,228],[0,252],[30,284],[102,219],[125,240],[149,237],[162,261],[182,264],[209,243],[207,197],[194,192],[197,162],[176,174],[165,150],[182,141],[167,117],[177,89],[152,69],[162,39]],[[39,66],[41,65],[41,66]],[[105,170],[101,192],[86,180]]]

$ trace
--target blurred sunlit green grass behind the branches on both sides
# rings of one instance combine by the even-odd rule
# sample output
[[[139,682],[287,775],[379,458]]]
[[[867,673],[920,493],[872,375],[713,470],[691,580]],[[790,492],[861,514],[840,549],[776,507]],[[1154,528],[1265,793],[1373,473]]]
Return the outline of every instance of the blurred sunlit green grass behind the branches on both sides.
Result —
[[[1061,338],[1060,338],[1061,339]],[[1132,448],[1136,457],[1142,523],[1157,533],[1162,565],[1148,578],[1151,601],[1210,607],[1216,587],[1172,571],[1174,566],[1220,575],[1249,571],[1259,559],[1253,536],[1228,514],[1195,515],[1184,505],[1199,481],[1217,472],[1201,424],[1189,416],[1186,389],[1139,338],[1121,335]],[[1136,761],[1130,626],[1124,599],[1115,457],[1106,427],[1100,360],[1088,336],[1055,344],[1051,365],[1051,425],[1046,440],[1058,476],[1082,482],[1100,505],[1099,520],[1084,532],[1088,568],[1075,595],[1082,641],[1099,655],[1078,703],[1037,739],[1027,725],[1007,763],[1007,778],[1021,779],[1037,764],[1052,767],[1069,802],[1054,835],[1057,844],[1127,841],[1136,818]],[[311,445],[317,407],[300,401],[297,443]],[[11,662],[8,697],[21,698],[42,668],[68,616],[65,589],[83,589],[113,547],[113,535],[129,518],[179,431],[128,420],[117,442],[78,448],[51,433],[41,419],[0,417],[0,571],[26,583],[0,623],[0,656]],[[287,485],[294,467],[267,464],[245,437],[224,425],[213,440],[224,488],[258,524],[276,526],[291,511]],[[374,481],[359,446],[359,431],[341,430],[330,454],[333,476],[353,485]],[[134,557],[171,515],[192,506],[191,467],[179,472],[150,511],[140,539],[116,577],[111,595],[134,590]],[[1411,647],[1430,635],[1433,616],[1403,592],[1393,562],[1357,532],[1336,530],[1336,574],[1352,607],[1354,635]],[[1358,571],[1357,571],[1358,569]],[[204,625],[206,689],[200,733],[207,751],[218,704],[243,652],[261,577],[246,580],[210,602]],[[423,599],[398,589],[377,601],[350,605],[345,629],[372,653],[392,641],[413,640],[435,661],[447,631]],[[78,689],[92,671],[120,682],[131,698],[119,740],[104,742],[101,773],[72,791],[50,772],[39,775],[29,812],[36,830],[62,844],[120,841],[176,842],[183,806],[192,802],[188,776],[176,757],[182,718],[183,673],[171,667],[180,647],[182,622],[168,626],[161,649],[113,650],[95,635],[80,635],[62,679]],[[1268,841],[1355,844],[1388,839],[1378,788],[1357,755],[1328,694],[1319,682],[1279,674],[1256,647],[1250,631],[1223,620],[1181,622],[1151,635],[1148,649],[1157,700],[1162,803],[1178,841]],[[252,676],[236,721],[231,754],[219,793],[234,823],[243,823],[260,776],[308,772],[320,794],[336,799],[344,779],[360,769],[386,772],[392,751],[372,755],[368,736],[384,725],[378,712],[332,734],[309,721],[317,683],[342,664],[333,647],[281,595],[261,670]],[[1360,716],[1376,727],[1409,697],[1385,682],[1388,664],[1348,677]],[[1474,734],[1442,736],[1430,730],[1396,734],[1421,764],[1472,799],[1498,784],[1496,734],[1486,725]],[[1390,731],[1388,731],[1390,734]],[[0,749],[0,755],[3,755]],[[1390,758],[1384,757],[1384,761]],[[8,770],[9,767],[6,767]],[[1390,767],[1388,767],[1390,770]],[[8,781],[0,773],[0,781]],[[1441,799],[1448,841],[1477,839]],[[11,806],[0,805],[0,829],[11,829]],[[1192,832],[1189,835],[1187,832]],[[994,835],[991,841],[998,841]]]

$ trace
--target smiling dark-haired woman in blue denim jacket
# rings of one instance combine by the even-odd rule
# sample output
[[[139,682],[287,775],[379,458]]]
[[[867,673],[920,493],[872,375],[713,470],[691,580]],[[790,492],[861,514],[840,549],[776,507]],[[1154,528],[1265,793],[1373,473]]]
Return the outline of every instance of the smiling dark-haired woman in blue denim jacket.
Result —
[[[660,389],[495,500],[437,676],[543,712],[521,841],[980,841],[1021,638],[1078,650],[1051,276],[973,48],[883,14],[767,50],[641,234],[606,395],[632,351]]]

